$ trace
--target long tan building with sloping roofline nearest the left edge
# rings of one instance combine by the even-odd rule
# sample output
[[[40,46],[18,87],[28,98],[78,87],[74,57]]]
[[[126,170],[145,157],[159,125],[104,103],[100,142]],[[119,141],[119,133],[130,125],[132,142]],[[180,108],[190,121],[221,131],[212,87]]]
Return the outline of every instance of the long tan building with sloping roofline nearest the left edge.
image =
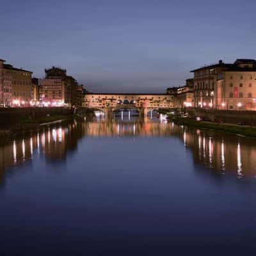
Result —
[[[5,92],[12,106],[30,106],[32,100],[33,72],[22,68],[15,68],[10,64],[3,64]]]

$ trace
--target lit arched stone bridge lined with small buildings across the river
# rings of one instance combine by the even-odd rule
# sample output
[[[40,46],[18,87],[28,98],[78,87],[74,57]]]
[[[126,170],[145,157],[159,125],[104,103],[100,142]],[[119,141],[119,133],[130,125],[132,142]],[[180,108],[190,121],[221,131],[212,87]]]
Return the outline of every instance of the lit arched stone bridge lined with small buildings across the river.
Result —
[[[118,109],[135,109],[143,116],[154,109],[175,108],[175,97],[171,94],[86,93],[82,106],[99,109],[105,116]]]

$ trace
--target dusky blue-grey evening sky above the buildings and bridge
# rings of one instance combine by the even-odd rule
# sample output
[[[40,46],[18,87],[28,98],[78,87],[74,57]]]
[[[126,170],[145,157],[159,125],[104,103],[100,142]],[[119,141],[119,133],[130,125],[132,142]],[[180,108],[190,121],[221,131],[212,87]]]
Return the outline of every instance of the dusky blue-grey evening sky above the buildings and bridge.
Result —
[[[164,93],[190,70],[256,58],[256,1],[0,0],[0,58],[90,92]]]

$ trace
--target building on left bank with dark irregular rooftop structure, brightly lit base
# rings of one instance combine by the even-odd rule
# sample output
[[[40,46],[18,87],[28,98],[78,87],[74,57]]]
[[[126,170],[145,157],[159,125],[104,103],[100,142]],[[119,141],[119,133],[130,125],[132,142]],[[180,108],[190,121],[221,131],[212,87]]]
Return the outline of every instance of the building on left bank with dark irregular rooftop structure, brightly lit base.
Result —
[[[45,79],[40,79],[40,100],[44,105],[76,106],[77,81],[67,76],[67,70],[52,67],[45,69]]]

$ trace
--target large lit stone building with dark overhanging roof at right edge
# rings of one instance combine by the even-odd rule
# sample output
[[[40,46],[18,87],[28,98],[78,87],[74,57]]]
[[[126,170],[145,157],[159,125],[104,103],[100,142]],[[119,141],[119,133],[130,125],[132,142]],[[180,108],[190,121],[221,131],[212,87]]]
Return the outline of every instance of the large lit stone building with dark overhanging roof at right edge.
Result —
[[[192,70],[196,108],[256,110],[256,61],[237,59]]]

